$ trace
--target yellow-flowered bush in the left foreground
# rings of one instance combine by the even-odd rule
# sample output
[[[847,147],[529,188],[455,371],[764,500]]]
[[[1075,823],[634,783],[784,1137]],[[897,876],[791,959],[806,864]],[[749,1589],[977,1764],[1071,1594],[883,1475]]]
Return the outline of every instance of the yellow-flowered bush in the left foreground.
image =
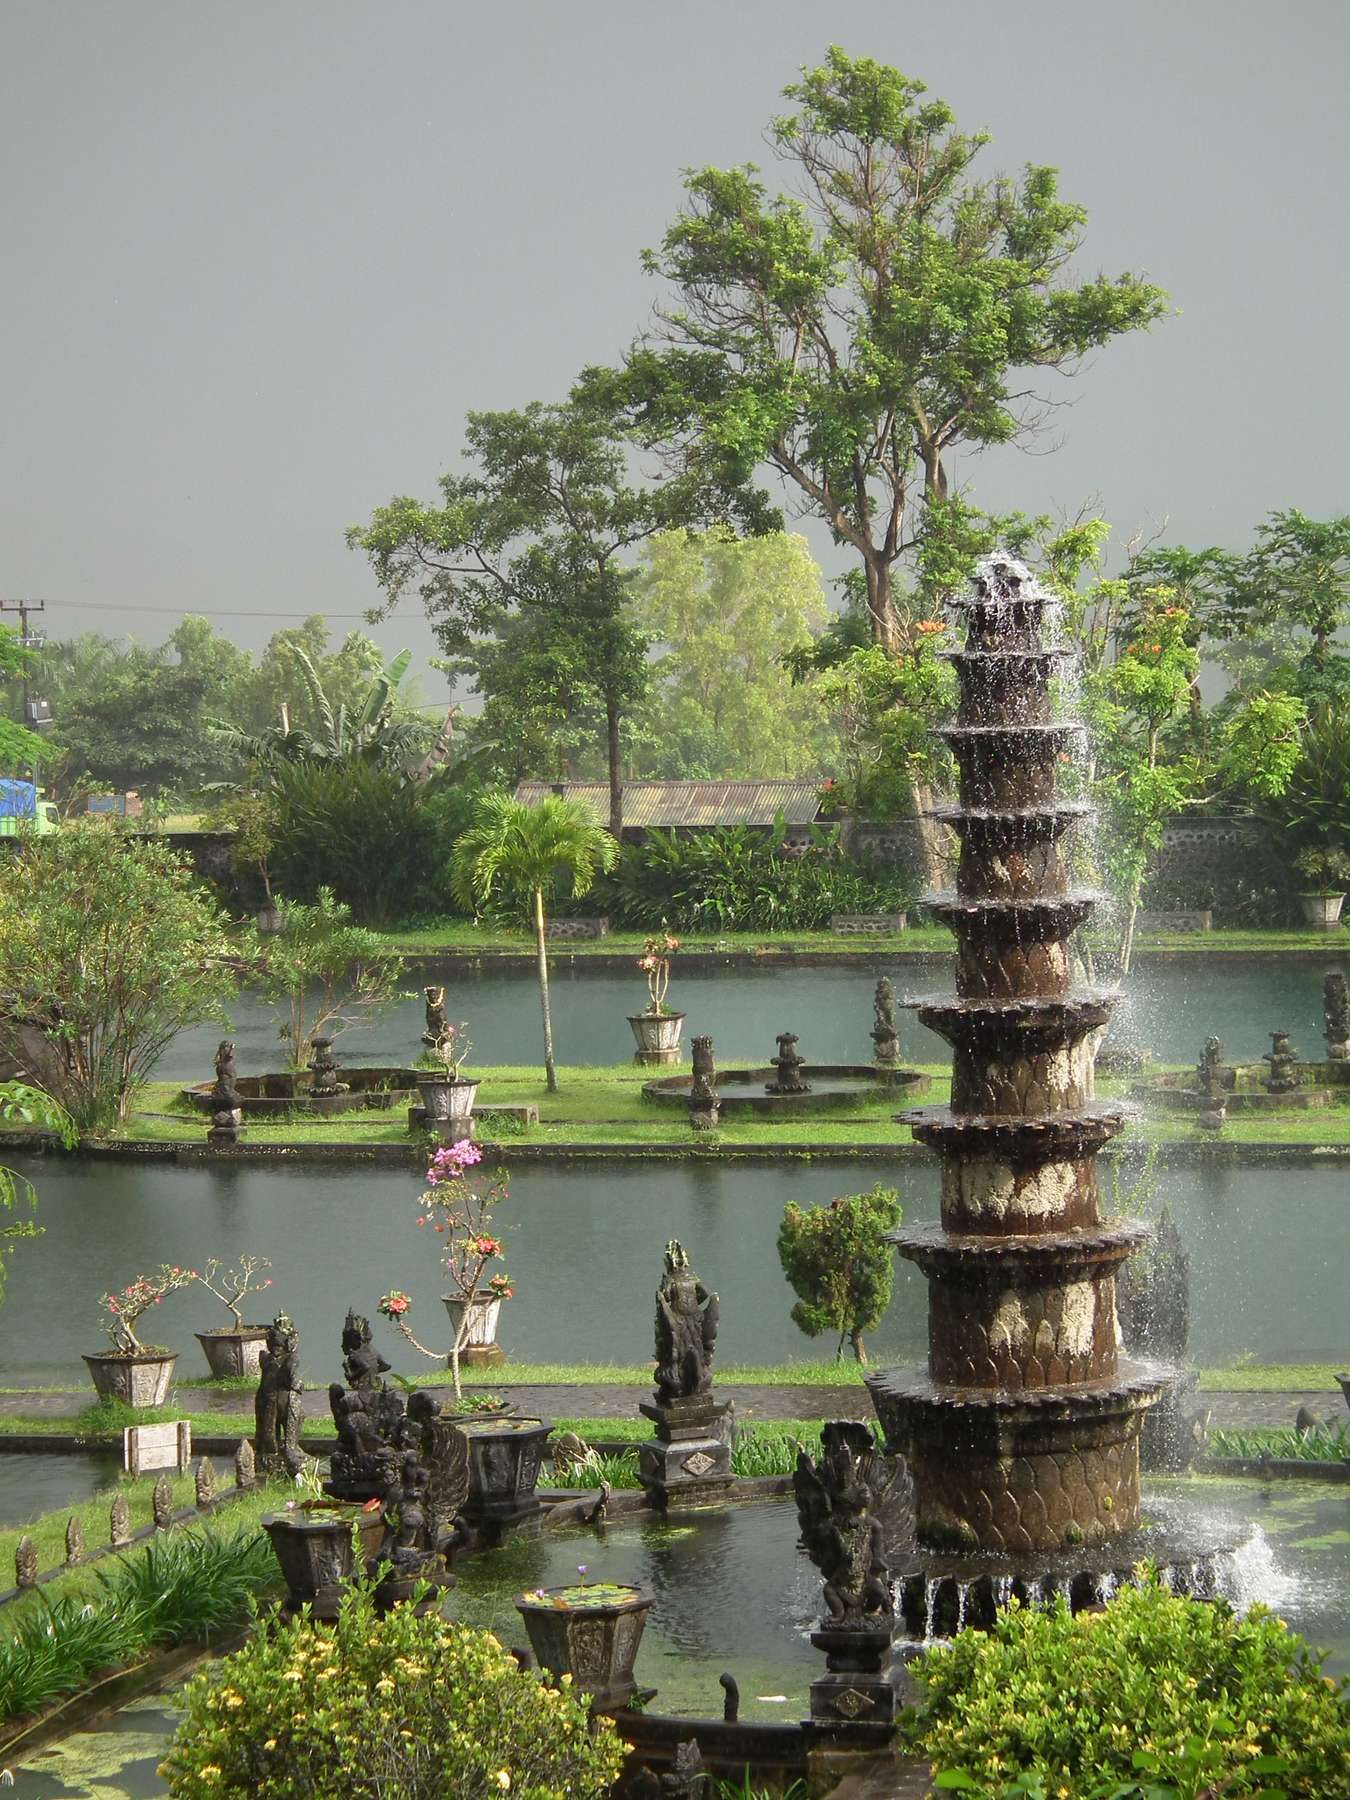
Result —
[[[623,1755],[490,1633],[355,1588],[337,1624],[263,1620],[194,1676],[160,1777],[178,1800],[599,1800]]]

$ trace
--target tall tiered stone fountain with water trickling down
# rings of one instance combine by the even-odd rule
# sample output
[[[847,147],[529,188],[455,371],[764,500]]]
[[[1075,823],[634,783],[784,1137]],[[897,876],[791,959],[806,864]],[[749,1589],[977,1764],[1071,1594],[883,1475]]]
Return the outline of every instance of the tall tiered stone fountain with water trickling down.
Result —
[[[1121,1130],[1093,1100],[1111,995],[1071,988],[1069,934],[1098,896],[1071,887],[1058,799],[1073,724],[1051,716],[1062,650],[1026,569],[981,565],[965,612],[958,722],[956,995],[918,1001],[952,1046],[950,1107],[904,1114],[941,1157],[941,1224],[893,1233],[929,1282],[929,1366],[868,1377],[914,1483],[900,1609],[925,1636],[981,1624],[1010,1593],[1091,1604],[1150,1555],[1211,1591],[1193,1546],[1139,1532],[1139,1424],[1172,1370],[1120,1357],[1116,1271],[1147,1237],[1102,1219],[1096,1154]],[[1184,1564],[1184,1568],[1183,1568]]]

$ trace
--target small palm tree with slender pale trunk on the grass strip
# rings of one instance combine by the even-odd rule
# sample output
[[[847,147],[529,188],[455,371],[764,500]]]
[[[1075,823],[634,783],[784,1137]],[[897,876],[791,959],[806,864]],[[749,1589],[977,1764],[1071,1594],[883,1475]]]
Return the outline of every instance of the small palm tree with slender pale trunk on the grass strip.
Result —
[[[450,884],[463,905],[479,907],[502,889],[515,900],[531,896],[535,947],[538,950],[538,997],[544,1008],[544,1078],[558,1093],[553,1062],[553,1013],[549,1012],[549,956],[544,947],[544,896],[562,882],[574,895],[590,889],[599,869],[614,868],[619,846],[589,806],[551,794],[536,806],[488,794],[473,824],[454,850]]]

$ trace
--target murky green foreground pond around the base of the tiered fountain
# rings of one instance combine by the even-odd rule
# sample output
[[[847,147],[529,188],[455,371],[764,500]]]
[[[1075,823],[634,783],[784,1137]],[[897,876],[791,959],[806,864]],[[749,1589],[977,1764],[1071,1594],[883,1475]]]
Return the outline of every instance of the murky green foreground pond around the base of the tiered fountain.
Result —
[[[1145,1492],[1145,1505],[1154,1494],[1258,1526],[1233,1570],[1231,1597],[1274,1607],[1330,1651],[1330,1670],[1350,1669],[1350,1487],[1159,1481]],[[463,1564],[445,1611],[513,1645],[526,1642],[513,1606],[524,1589],[576,1580],[581,1564],[590,1580],[646,1582],[655,1602],[637,1679],[657,1688],[657,1710],[720,1717],[718,1676],[729,1670],[743,1719],[790,1723],[806,1715],[806,1690],[823,1669],[808,1640],[819,1579],[796,1544],[792,1501],[704,1508],[670,1525],[619,1519],[587,1532],[545,1532]],[[155,1760],[173,1724],[164,1699],[140,1701],[20,1764],[13,1793],[16,1800],[151,1800],[164,1795]]]

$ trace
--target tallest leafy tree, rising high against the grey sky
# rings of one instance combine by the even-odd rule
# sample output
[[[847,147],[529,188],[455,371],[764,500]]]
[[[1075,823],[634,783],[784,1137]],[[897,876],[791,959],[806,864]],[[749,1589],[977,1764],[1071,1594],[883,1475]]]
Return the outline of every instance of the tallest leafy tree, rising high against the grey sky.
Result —
[[[972,176],[986,135],[925,92],[837,47],[803,70],[796,110],[769,126],[799,198],[752,166],[691,171],[646,252],[670,290],[659,329],[621,374],[581,383],[621,398],[680,472],[743,486],[774,470],[860,558],[887,650],[904,637],[896,563],[949,497],[952,450],[1022,437],[1042,371],[1165,310],[1132,274],[1076,281],[1087,214],[1055,171]]]

